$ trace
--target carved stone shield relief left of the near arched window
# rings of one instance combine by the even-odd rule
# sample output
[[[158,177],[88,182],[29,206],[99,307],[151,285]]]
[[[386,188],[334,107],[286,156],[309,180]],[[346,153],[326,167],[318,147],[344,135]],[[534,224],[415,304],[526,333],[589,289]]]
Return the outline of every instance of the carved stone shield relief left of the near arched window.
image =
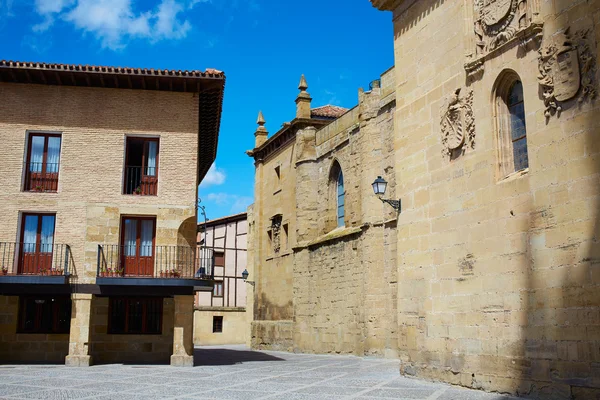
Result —
[[[442,154],[449,158],[475,148],[473,91],[462,98],[460,92],[461,89],[456,89],[441,110]]]

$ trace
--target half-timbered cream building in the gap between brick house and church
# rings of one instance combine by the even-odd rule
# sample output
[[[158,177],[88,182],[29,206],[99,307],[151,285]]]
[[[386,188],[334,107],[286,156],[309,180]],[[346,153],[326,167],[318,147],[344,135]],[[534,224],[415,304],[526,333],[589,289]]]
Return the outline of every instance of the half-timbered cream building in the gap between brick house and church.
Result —
[[[214,257],[212,292],[196,294],[194,344],[246,343],[251,314],[246,313],[248,222],[246,213],[198,224],[198,245]],[[250,319],[249,319],[250,317]]]

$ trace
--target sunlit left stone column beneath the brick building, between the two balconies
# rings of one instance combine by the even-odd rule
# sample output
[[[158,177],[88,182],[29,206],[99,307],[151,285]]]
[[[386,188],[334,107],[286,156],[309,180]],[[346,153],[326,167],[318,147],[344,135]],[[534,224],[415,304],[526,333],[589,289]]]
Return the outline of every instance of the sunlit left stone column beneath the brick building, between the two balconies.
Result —
[[[92,314],[91,294],[73,293],[71,296],[71,332],[69,335],[69,355],[65,365],[69,367],[89,367],[90,356],[90,321]]]

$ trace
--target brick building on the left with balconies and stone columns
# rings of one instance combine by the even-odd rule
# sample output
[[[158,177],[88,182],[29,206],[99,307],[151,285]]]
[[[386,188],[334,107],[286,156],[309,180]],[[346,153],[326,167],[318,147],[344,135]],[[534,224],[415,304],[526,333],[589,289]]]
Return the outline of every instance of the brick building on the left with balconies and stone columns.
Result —
[[[0,362],[193,364],[224,83],[0,61]]]

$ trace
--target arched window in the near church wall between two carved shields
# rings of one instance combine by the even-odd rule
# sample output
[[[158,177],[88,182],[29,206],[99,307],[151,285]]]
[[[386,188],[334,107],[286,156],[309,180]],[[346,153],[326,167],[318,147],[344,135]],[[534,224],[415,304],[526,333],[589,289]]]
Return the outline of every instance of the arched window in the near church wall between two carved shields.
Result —
[[[529,167],[523,84],[513,71],[505,71],[496,89],[498,148],[501,178]]]

